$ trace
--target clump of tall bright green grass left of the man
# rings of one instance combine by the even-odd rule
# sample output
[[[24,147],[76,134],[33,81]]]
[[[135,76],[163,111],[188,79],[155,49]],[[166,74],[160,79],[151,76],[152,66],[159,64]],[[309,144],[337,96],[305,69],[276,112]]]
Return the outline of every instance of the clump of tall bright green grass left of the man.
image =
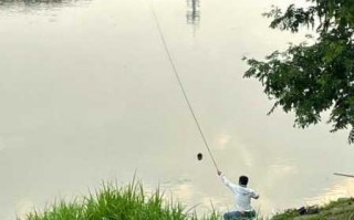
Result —
[[[58,202],[43,212],[29,213],[27,220],[197,220],[195,212],[188,212],[180,203],[166,202],[156,190],[147,195],[142,184],[126,187],[104,185],[94,195],[81,201]],[[199,218],[200,219],[200,218]],[[212,211],[204,220],[220,219]]]

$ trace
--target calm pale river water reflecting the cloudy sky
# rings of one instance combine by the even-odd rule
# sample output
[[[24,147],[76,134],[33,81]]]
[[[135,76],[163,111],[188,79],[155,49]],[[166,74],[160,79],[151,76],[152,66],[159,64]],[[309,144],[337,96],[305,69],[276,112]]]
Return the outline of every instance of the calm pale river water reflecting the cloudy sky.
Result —
[[[301,35],[268,29],[284,0],[0,0],[0,219],[102,180],[128,182],[205,212],[231,209],[164,51],[171,56],[218,166],[250,176],[263,214],[354,196],[347,132],[305,130],[275,112],[243,55],[262,57]],[[205,159],[198,161],[201,151]]]

